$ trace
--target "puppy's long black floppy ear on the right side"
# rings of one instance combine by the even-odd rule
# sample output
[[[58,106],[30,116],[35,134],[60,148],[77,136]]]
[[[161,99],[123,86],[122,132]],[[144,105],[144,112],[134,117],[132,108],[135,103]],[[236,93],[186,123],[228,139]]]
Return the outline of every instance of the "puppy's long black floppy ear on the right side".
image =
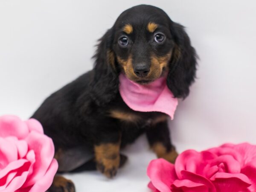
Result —
[[[172,23],[172,27],[175,47],[169,64],[167,86],[175,97],[185,99],[189,95],[189,86],[195,79],[197,55],[184,27],[178,23]]]

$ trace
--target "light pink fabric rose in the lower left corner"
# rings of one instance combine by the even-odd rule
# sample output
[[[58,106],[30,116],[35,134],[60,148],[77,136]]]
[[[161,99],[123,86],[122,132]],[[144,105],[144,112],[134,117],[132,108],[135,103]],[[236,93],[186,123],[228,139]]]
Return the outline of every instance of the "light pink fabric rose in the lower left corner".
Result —
[[[0,116],[0,192],[45,192],[58,169],[53,156],[37,120]]]

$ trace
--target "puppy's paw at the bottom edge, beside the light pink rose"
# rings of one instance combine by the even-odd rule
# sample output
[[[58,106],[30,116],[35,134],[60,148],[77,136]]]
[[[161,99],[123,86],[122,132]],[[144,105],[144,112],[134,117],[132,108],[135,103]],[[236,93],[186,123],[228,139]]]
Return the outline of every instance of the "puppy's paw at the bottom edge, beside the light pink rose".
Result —
[[[56,175],[47,192],[76,192],[76,190],[75,185],[71,180]]]

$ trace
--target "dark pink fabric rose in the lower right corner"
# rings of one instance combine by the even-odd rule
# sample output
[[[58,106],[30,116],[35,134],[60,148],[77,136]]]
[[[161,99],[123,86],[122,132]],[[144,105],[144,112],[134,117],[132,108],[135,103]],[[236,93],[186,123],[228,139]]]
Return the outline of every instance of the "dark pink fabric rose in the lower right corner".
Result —
[[[187,150],[175,165],[152,160],[147,174],[154,192],[256,192],[256,145]]]

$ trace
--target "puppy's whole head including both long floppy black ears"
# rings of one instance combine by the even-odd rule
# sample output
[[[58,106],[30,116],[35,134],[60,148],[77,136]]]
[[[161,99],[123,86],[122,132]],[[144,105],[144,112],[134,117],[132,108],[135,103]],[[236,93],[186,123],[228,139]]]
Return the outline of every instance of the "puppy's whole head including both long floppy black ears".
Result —
[[[122,12],[100,40],[94,57],[95,70],[111,77],[105,83],[115,81],[115,86],[119,73],[139,84],[166,76],[174,96],[185,98],[195,78],[195,49],[183,26],[154,6],[134,6]]]

